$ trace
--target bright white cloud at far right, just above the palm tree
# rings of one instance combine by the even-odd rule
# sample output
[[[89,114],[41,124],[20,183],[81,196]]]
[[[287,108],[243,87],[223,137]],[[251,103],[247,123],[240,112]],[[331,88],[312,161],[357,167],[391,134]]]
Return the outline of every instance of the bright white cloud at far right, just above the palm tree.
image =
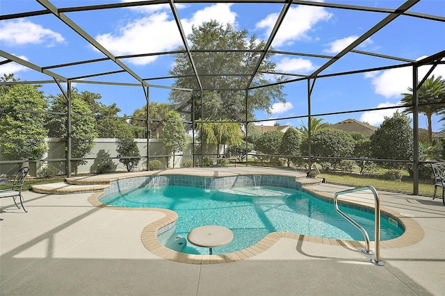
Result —
[[[419,67],[419,80],[423,79],[430,66]],[[445,66],[439,65],[432,72],[435,76],[445,77]],[[401,93],[408,92],[407,88],[412,87],[412,67],[388,69],[381,72],[369,72],[366,78],[371,79],[374,92],[389,98],[399,99]]]

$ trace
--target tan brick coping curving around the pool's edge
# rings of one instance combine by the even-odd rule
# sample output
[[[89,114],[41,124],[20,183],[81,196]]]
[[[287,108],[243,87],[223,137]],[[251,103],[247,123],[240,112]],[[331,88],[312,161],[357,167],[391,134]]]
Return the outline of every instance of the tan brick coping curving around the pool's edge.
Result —
[[[270,173],[269,173],[270,174]],[[236,174],[225,174],[224,176],[233,176]],[[283,174],[277,174],[282,176]],[[195,176],[204,176],[200,174],[195,174]],[[113,181],[116,181],[120,178],[113,178]],[[318,192],[311,190],[310,188],[303,188],[304,191],[310,192],[314,195],[321,196],[325,199],[334,199],[333,195]],[[169,249],[161,244],[158,240],[159,231],[164,227],[168,227],[173,224],[177,220],[177,213],[172,210],[163,209],[163,208],[124,208],[119,206],[108,206],[106,204],[102,204],[99,202],[99,197],[104,195],[104,192],[95,192],[90,197],[88,197],[88,202],[92,204],[92,206],[97,206],[99,208],[106,208],[118,211],[157,211],[161,212],[165,215],[165,217],[156,220],[147,226],[144,227],[143,231],[140,234],[140,241],[142,242],[145,249],[147,249],[152,254],[159,256],[161,258],[167,259],[169,261],[175,261],[179,263],[188,263],[188,264],[218,264],[218,263],[231,263],[236,261],[242,261],[248,258],[252,258],[258,254],[265,252],[266,250],[273,247],[275,243],[281,238],[290,238],[293,240],[301,240],[305,242],[316,242],[324,245],[339,245],[348,248],[364,248],[366,247],[364,241],[359,240],[339,240],[334,238],[321,238],[316,236],[307,236],[305,234],[299,233],[290,233],[285,231],[277,231],[273,233],[268,233],[264,238],[259,240],[256,244],[247,247],[245,249],[241,249],[236,252],[231,252],[227,254],[213,254],[213,255],[197,255],[197,254],[186,254],[177,252],[175,250]],[[362,206],[365,208],[372,208],[370,204],[365,202],[354,202],[358,206]],[[402,223],[405,231],[398,238],[394,238],[392,240],[383,240],[380,241],[380,247],[383,249],[393,249],[400,247],[408,247],[410,245],[414,245],[417,242],[420,242],[425,236],[425,232],[421,228],[421,226],[413,220],[411,217],[406,217],[397,213],[396,211],[392,211],[389,208],[380,208],[380,210],[388,215],[396,217],[396,219]],[[370,248],[375,247],[373,242],[370,242]]]

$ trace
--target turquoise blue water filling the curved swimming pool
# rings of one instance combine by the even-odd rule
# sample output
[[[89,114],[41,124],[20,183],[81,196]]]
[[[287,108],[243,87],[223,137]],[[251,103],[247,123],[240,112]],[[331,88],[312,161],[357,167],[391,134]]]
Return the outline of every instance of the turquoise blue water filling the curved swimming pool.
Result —
[[[228,245],[213,249],[225,254],[250,247],[273,231],[308,236],[364,240],[362,233],[346,221],[334,205],[305,192],[275,186],[247,186],[205,190],[188,186],[145,187],[113,193],[100,199],[103,204],[137,208],[168,208],[178,213],[176,233],[184,238],[191,229],[208,224],[227,227],[234,233]],[[340,206],[374,237],[374,215]],[[394,221],[393,221],[394,223]],[[401,236],[403,229],[381,220],[381,240]],[[187,242],[181,251],[208,254],[208,249]]]

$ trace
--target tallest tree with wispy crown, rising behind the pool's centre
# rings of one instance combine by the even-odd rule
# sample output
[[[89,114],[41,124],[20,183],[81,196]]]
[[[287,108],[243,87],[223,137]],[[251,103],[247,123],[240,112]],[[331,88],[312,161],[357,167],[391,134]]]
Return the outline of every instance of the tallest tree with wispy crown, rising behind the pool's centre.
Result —
[[[245,120],[245,92],[243,90],[250,86],[266,85],[270,83],[265,72],[273,72],[275,63],[266,55],[255,75],[252,83],[248,85],[250,76],[244,75],[222,75],[231,73],[249,73],[257,65],[259,52],[248,52],[246,50],[262,50],[264,41],[257,40],[256,36],[248,38],[248,31],[236,31],[231,25],[223,26],[216,21],[204,22],[200,26],[193,26],[192,33],[188,35],[191,50],[206,52],[195,52],[193,60],[197,72],[206,74],[200,76],[200,82],[204,88],[202,105],[204,106],[204,118],[209,120]],[[179,50],[184,48],[179,48]],[[215,50],[215,51],[211,51]],[[219,51],[218,51],[219,50]],[[243,52],[223,52],[220,50],[236,50]],[[188,88],[199,90],[200,85],[193,75],[193,68],[186,54],[177,54],[175,66],[170,71],[172,76],[180,76],[173,86],[177,88]],[[279,79],[280,81],[280,79]],[[266,88],[253,88],[248,94],[248,119],[254,118],[256,110],[264,110],[270,113],[272,104],[284,101],[282,92],[283,85],[273,85]],[[233,90],[235,89],[235,90]],[[201,100],[199,94],[195,95],[195,120],[201,117]],[[184,95],[184,91],[172,90],[170,92],[172,104],[189,106],[190,96]]]

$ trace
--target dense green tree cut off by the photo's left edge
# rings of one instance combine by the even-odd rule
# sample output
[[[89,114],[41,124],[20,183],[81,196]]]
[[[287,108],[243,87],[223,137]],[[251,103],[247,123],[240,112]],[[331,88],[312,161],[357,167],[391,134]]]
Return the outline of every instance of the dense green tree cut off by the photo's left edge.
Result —
[[[3,160],[40,159],[47,151],[48,130],[42,111],[47,101],[40,85],[13,85],[0,95],[0,151]],[[26,110],[26,111],[23,111]],[[29,111],[29,112],[28,112]],[[3,114],[2,114],[3,113]]]

